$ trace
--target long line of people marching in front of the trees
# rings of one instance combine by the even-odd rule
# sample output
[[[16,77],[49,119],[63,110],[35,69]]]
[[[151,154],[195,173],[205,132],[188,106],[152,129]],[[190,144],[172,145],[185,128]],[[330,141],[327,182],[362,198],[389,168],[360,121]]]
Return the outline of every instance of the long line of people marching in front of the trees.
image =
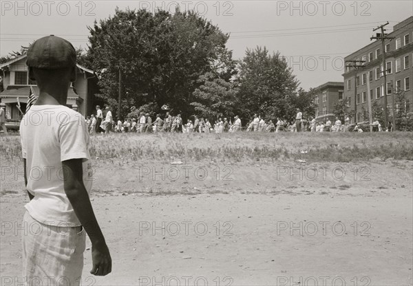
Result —
[[[112,111],[109,107],[105,109],[105,118],[103,118],[103,111],[100,106],[96,106],[96,115],[92,114],[87,116],[86,125],[90,134],[95,133],[157,133],[157,132],[179,132],[179,133],[224,133],[224,132],[237,132],[242,130],[242,123],[238,116],[232,120],[227,118],[218,118],[215,122],[210,122],[207,118],[200,118],[194,115],[193,120],[187,120],[183,122],[181,115],[171,115],[167,112],[165,118],[161,118],[161,115],[156,115],[156,119],[152,120],[149,113],[141,113],[138,118],[126,118],[124,121],[114,121],[112,117]],[[374,131],[382,131],[381,124],[378,120],[375,120],[372,124]],[[346,115],[344,124],[342,124],[339,118],[336,118],[334,124],[327,119],[326,122],[320,122],[315,118],[304,119],[303,114],[297,109],[297,115],[295,121],[288,122],[282,118],[277,118],[277,122],[272,120],[264,120],[261,116],[255,114],[254,117],[246,124],[244,129],[246,131],[258,131],[258,132],[346,132],[349,130],[350,118]],[[357,124],[352,131],[363,132],[361,127]]]

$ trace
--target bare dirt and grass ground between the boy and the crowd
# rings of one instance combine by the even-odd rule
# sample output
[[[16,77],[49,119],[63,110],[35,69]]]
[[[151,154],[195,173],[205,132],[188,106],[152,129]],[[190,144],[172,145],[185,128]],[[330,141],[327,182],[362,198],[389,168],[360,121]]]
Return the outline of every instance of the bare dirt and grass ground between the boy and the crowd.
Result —
[[[1,285],[19,285],[28,197],[19,137],[0,142]],[[113,270],[89,274],[87,242],[82,285],[413,285],[411,144],[411,133],[94,137],[91,198]]]

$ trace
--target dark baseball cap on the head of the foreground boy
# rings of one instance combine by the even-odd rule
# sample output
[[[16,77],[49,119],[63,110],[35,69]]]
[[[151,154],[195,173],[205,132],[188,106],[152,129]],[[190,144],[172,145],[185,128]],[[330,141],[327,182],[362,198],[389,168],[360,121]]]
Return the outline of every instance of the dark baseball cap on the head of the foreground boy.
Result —
[[[45,36],[28,49],[26,64],[39,69],[61,69],[76,66],[76,50],[59,36]]]

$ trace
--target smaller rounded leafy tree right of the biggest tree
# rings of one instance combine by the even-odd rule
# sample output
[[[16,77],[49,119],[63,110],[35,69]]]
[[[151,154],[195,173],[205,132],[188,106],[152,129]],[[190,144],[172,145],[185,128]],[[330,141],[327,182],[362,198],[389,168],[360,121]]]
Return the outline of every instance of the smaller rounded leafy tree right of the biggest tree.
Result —
[[[254,113],[265,118],[289,118],[292,96],[297,96],[298,80],[285,58],[269,54],[266,47],[246,50],[238,67],[240,92],[239,113],[249,119]]]

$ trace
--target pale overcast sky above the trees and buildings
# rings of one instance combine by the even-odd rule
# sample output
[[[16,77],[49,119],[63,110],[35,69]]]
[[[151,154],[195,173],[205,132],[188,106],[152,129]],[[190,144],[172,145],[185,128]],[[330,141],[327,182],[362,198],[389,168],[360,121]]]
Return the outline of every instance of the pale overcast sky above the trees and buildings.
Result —
[[[120,9],[155,6],[195,10],[223,32],[234,58],[266,46],[286,56],[301,87],[343,81],[343,58],[371,43],[373,28],[392,27],[413,15],[413,1],[1,1],[0,54],[20,50],[48,34],[87,47],[87,25]]]

